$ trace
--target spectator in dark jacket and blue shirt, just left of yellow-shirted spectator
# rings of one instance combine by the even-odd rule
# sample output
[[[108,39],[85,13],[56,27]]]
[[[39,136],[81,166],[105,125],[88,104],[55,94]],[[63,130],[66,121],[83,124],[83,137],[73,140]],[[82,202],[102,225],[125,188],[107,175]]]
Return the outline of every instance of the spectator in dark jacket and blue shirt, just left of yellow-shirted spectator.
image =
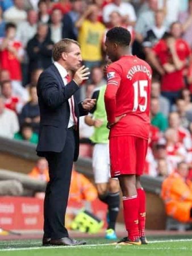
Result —
[[[70,2],[72,9],[64,15],[63,19],[63,38],[77,40],[78,29],[75,24],[83,13],[84,5],[82,0],[71,0]]]

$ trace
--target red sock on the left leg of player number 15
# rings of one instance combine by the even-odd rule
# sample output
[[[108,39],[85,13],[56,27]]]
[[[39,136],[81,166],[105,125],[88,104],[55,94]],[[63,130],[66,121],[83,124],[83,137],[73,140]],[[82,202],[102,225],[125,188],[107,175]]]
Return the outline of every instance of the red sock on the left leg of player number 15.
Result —
[[[138,210],[139,200],[137,195],[129,197],[123,196],[124,222],[130,241],[135,241],[139,238]]]

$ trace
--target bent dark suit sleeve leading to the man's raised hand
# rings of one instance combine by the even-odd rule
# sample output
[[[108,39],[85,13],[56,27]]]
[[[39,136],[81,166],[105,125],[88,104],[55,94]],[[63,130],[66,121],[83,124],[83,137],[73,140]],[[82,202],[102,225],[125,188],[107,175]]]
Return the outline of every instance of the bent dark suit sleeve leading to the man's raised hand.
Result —
[[[44,103],[51,109],[56,109],[79,89],[73,80],[62,89],[59,89],[57,81],[49,73],[42,73],[37,84],[37,93]]]

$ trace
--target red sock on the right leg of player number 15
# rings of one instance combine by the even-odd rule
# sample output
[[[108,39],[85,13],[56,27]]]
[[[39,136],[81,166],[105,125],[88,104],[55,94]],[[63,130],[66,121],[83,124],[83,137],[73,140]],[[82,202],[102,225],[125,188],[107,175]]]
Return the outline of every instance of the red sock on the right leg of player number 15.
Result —
[[[137,197],[139,201],[139,237],[145,236],[145,191],[143,188],[137,188]]]

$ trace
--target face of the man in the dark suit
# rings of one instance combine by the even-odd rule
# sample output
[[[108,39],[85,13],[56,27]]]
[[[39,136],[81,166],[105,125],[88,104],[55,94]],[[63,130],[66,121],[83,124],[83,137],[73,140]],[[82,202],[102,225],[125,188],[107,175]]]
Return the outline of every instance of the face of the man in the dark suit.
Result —
[[[77,44],[70,44],[68,52],[62,53],[62,58],[65,60],[66,66],[71,71],[76,71],[82,64],[80,47]]]

